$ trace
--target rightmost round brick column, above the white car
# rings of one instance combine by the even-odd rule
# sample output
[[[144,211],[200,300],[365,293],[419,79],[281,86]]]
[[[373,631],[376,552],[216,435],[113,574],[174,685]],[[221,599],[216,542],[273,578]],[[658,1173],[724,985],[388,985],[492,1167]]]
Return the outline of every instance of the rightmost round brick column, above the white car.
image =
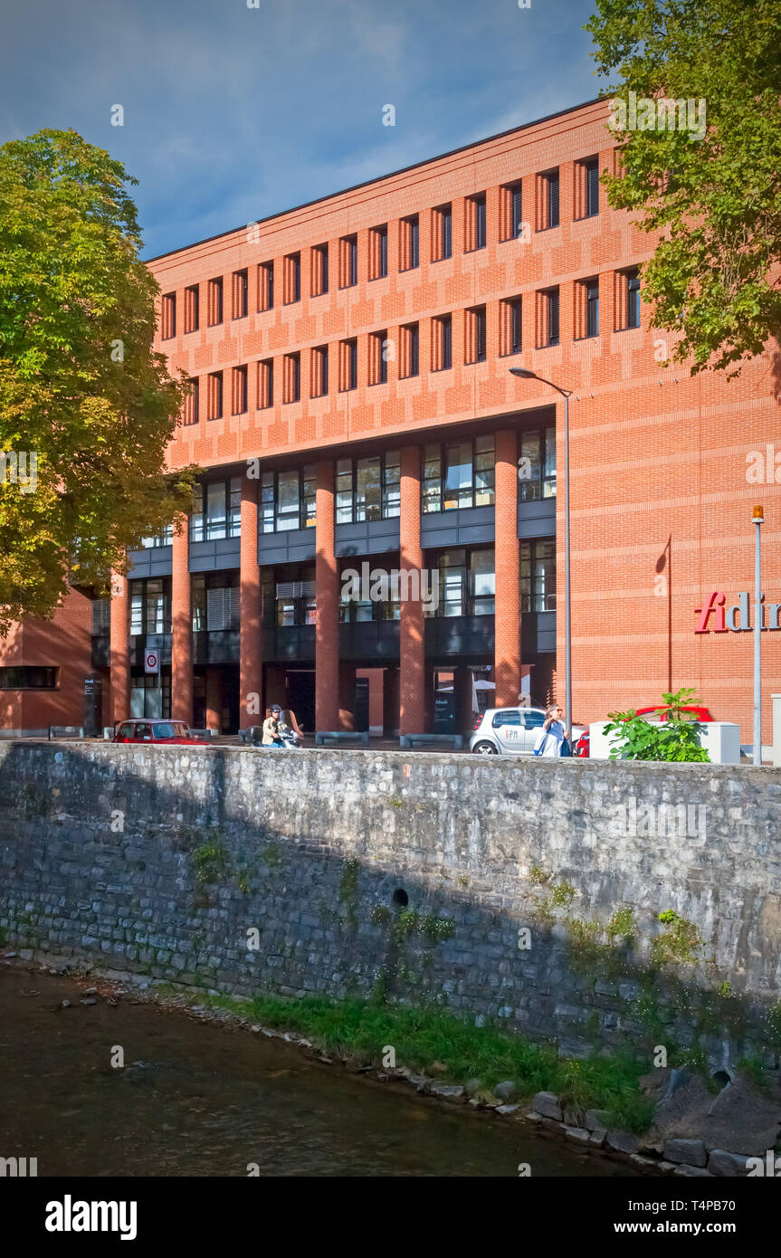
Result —
[[[518,564],[518,468],[513,429],[497,433],[497,502],[494,526],[496,706],[512,707],[521,692],[521,589]]]

